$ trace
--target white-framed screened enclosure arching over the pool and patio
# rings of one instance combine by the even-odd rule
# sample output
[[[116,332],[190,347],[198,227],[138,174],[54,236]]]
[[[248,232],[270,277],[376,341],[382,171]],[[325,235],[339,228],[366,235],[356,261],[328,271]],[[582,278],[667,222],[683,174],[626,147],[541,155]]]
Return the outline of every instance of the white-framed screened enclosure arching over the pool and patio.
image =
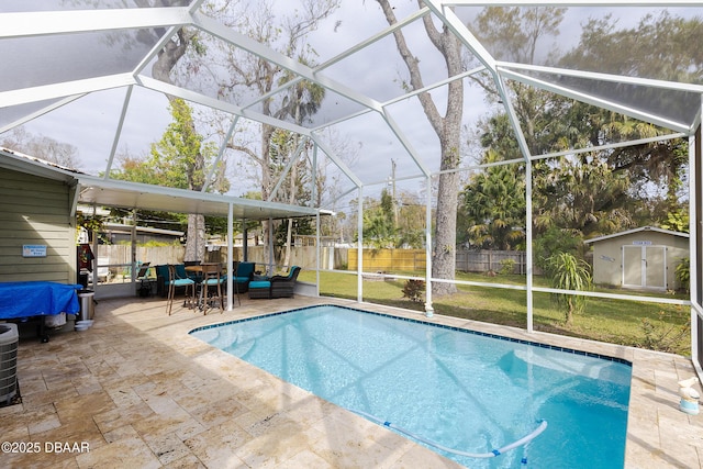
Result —
[[[554,293],[673,305],[700,366],[703,2],[3,0],[0,26],[2,167],[51,161],[77,205],[330,239],[315,270],[425,281],[428,315],[466,286],[521,292],[528,331]],[[648,226],[688,257],[599,260],[674,284],[544,280]]]

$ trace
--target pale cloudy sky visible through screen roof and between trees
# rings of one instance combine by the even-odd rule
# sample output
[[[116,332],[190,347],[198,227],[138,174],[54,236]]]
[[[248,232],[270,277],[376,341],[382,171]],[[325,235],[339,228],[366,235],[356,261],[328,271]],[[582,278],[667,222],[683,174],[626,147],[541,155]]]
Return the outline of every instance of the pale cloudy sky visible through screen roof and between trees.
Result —
[[[38,9],[48,8],[46,5],[68,4],[60,0],[33,0],[33,5]],[[70,3],[70,2],[69,2]],[[3,0],[0,11],[21,10],[25,7],[24,0]],[[80,2],[76,2],[80,4]],[[252,0],[252,4],[258,4]],[[282,21],[286,14],[290,14],[298,3],[290,1],[272,2],[276,12],[275,21]],[[402,0],[394,3],[395,13],[399,19],[409,14],[416,9],[414,0]],[[469,18],[471,11],[476,9],[461,9],[459,11],[462,18]],[[633,9],[584,9],[572,8],[562,24],[562,35],[554,41],[561,48],[568,48],[571,44],[578,42],[580,35],[579,24],[592,12],[599,15],[605,12],[627,14],[621,20],[621,24],[632,26],[636,24],[640,14],[633,14]],[[691,11],[691,10],[677,10]],[[700,11],[696,10],[696,11]],[[690,14],[690,13],[689,13]],[[388,26],[380,8],[376,1],[349,2],[342,1],[342,7],[330,19],[325,20],[321,27],[311,34],[309,43],[314,49],[316,62],[324,64],[326,60],[335,57],[348,47],[372,37],[379,31]],[[421,23],[416,22],[412,26],[404,30],[406,38],[413,53],[421,58],[421,67],[425,77],[425,82],[431,83],[435,80],[444,78],[444,65],[442,56],[433,48],[424,34]],[[85,37],[70,36],[78,41]],[[111,37],[107,37],[110,41]],[[92,44],[100,56],[100,47]],[[136,51],[130,49],[125,44],[119,42],[112,43],[112,47],[120,47],[120,54],[125,60],[132,57]],[[64,49],[75,54],[90,52],[90,48],[72,49],[69,44],[63,46]],[[53,51],[53,49],[49,49]],[[31,51],[25,51],[27,57]],[[62,51],[56,51],[62,53]],[[4,54],[4,55],[3,55]],[[0,48],[0,58],[4,58],[4,63],[16,63],[20,58],[8,56],[9,52]],[[11,53],[10,53],[11,54]],[[65,60],[67,64],[67,60]],[[82,62],[82,66],[90,74],[91,67],[99,71],[107,65],[100,62],[87,59]],[[59,65],[54,66],[44,74],[51,80],[56,76],[65,75],[71,77],[78,71],[62,68]],[[207,70],[200,70],[204,74]],[[386,101],[398,97],[402,93],[400,79],[406,77],[406,68],[399,57],[395,49],[395,43],[392,36],[384,37],[364,51],[359,51],[352,57],[339,62],[325,70],[323,74],[344,86],[362,92],[378,101]],[[201,75],[202,76],[202,75]],[[443,90],[435,89],[432,91],[436,102],[442,108]],[[78,146],[79,155],[83,160],[81,169],[97,174],[103,171],[110,149],[112,147],[115,132],[119,124],[120,113],[124,102],[125,90],[115,89],[102,91],[92,96],[85,97],[75,101],[62,110],[52,112],[26,124],[26,130],[31,133],[42,134],[54,137],[58,141],[66,141]],[[334,101],[333,101],[334,100]],[[321,116],[334,119],[344,113],[345,105],[348,101],[345,98],[334,97],[328,92],[330,110],[323,110]],[[412,148],[416,152],[417,157],[422,158],[423,165],[431,171],[438,169],[438,148],[437,137],[428,125],[426,116],[417,104],[416,99],[406,102],[400,102],[388,108],[390,115],[398,122],[403,130],[404,136]],[[477,89],[469,88],[466,92],[465,103],[465,125],[467,129],[476,129],[478,121],[487,115],[487,108],[482,96]],[[319,116],[320,118],[320,116]],[[136,154],[145,154],[148,152],[149,145],[160,138],[164,130],[170,122],[170,115],[167,111],[167,100],[164,96],[150,91],[135,88],[130,101],[129,112],[126,114],[124,127],[120,137],[119,149],[129,148],[130,152]],[[358,116],[350,121],[334,125],[335,131],[348,138],[356,153],[356,163],[354,163],[355,172],[366,183],[381,183],[390,176],[391,159],[399,163],[397,168],[398,177],[410,177],[420,175],[422,171],[408,157],[402,144],[393,135],[386,123],[378,114],[370,113]],[[236,165],[232,165],[236,168]],[[350,185],[350,182],[346,182]],[[247,187],[249,185],[249,187]],[[379,186],[380,187],[380,186]],[[248,190],[256,190],[257,185],[253,179],[242,179],[234,185],[235,194],[245,193]]]

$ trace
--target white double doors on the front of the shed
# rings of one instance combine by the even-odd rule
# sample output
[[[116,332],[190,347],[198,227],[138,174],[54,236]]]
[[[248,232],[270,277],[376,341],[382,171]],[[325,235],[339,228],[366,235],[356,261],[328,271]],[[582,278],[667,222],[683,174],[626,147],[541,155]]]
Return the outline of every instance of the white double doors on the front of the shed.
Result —
[[[623,287],[667,289],[666,246],[623,246]]]

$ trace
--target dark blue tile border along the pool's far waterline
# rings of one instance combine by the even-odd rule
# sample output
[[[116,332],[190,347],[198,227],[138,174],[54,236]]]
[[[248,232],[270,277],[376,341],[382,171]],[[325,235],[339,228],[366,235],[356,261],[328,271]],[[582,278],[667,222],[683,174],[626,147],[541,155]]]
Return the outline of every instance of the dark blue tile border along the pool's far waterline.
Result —
[[[406,322],[411,322],[411,323],[423,324],[423,325],[444,328],[444,330],[449,330],[449,331],[456,331],[456,332],[461,332],[461,333],[467,333],[467,334],[473,334],[473,335],[483,336],[483,337],[496,338],[499,340],[507,340],[507,342],[512,342],[512,343],[515,343],[515,344],[529,345],[529,346],[539,347],[539,348],[547,348],[547,349],[550,349],[550,350],[563,351],[566,354],[573,354],[573,355],[579,355],[579,356],[589,357],[589,358],[599,358],[599,359],[606,360],[606,361],[613,361],[613,362],[626,365],[626,366],[628,366],[631,368],[633,366],[632,361],[626,360],[624,358],[611,357],[611,356],[607,356],[607,355],[594,354],[592,351],[577,350],[576,348],[560,347],[558,345],[543,344],[543,343],[535,342],[535,340],[526,340],[524,338],[506,337],[506,336],[499,335],[499,334],[493,334],[493,333],[473,331],[473,330],[470,330],[470,328],[450,326],[450,325],[447,325],[447,324],[431,323],[428,321],[421,321],[421,320],[416,320],[416,319],[412,319],[412,317],[397,316],[397,315],[393,315],[393,314],[379,313],[379,312],[376,312],[376,311],[368,311],[368,310],[360,310],[358,308],[350,308],[350,306],[346,306],[346,305],[332,304],[332,303],[328,303],[328,304],[316,304],[314,306],[294,308],[292,310],[278,311],[278,312],[275,312],[275,313],[267,313],[267,314],[261,314],[261,315],[256,315],[256,316],[250,316],[250,317],[243,317],[243,319],[239,319],[239,320],[226,321],[226,322],[223,322],[223,323],[209,324],[209,325],[205,325],[205,326],[196,327],[196,328],[189,331],[188,334],[190,335],[190,334],[192,334],[194,332],[198,332],[198,331],[205,331],[205,330],[215,328],[215,327],[222,327],[222,326],[226,326],[226,325],[231,325],[231,324],[238,324],[238,323],[260,320],[260,319],[265,319],[265,317],[272,317],[272,316],[278,316],[278,315],[281,315],[281,314],[289,314],[289,313],[294,313],[294,312],[298,312],[298,311],[311,310],[311,309],[321,308],[321,306],[322,308],[324,308],[324,306],[334,306],[334,308],[339,308],[339,309],[344,309],[344,310],[355,311],[357,313],[366,313],[366,314],[373,314],[373,315],[377,315],[377,316],[392,317],[392,319],[400,320],[400,321],[406,321]]]

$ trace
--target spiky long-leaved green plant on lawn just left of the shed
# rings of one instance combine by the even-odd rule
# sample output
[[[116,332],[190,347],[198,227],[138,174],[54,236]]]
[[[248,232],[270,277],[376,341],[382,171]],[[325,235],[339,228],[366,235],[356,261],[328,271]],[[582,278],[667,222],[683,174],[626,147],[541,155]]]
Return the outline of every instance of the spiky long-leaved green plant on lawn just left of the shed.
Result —
[[[557,253],[549,257],[551,287],[560,290],[588,291],[593,288],[589,264],[570,253]],[[573,314],[583,312],[588,298],[581,294],[554,293],[557,304],[565,309],[567,326],[573,323]]]

